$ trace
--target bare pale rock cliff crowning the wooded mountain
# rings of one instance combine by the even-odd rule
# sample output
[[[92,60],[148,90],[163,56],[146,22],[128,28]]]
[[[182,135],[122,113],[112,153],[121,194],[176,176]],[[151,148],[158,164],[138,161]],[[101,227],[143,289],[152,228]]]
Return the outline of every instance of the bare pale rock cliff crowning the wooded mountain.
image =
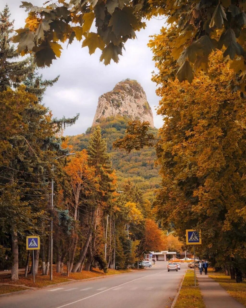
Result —
[[[101,95],[92,125],[101,117],[126,115],[132,120],[148,121],[154,127],[151,107],[143,88],[136,80],[126,79],[117,83],[114,89]]]

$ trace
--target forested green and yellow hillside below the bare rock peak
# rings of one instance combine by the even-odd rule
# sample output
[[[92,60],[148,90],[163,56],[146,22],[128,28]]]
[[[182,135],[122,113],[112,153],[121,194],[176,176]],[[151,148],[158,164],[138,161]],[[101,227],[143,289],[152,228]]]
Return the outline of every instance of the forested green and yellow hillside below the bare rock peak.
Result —
[[[119,190],[122,189],[126,179],[130,179],[140,189],[145,191],[145,196],[153,200],[155,188],[159,188],[161,177],[155,166],[155,149],[143,148],[139,151],[127,153],[125,150],[113,148],[113,142],[124,137],[127,123],[130,119],[117,115],[115,117],[100,118],[99,125],[102,136],[107,142],[107,149],[111,155],[113,168],[118,177]],[[92,127],[86,133],[68,138],[68,144],[75,150],[87,149]],[[150,132],[157,134],[156,128],[150,128]]]

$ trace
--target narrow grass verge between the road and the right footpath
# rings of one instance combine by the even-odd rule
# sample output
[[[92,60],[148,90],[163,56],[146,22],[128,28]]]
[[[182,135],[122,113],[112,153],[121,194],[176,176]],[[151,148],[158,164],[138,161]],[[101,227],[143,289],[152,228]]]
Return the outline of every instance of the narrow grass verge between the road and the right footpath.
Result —
[[[197,283],[197,281],[196,281]],[[198,286],[194,287],[194,270],[187,270],[175,308],[205,308]]]

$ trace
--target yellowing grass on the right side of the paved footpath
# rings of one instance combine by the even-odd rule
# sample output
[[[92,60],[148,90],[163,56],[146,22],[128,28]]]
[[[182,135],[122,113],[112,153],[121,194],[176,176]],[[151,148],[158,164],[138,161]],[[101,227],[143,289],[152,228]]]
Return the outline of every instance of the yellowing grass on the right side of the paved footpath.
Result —
[[[235,279],[226,276],[224,273],[210,271],[208,277],[213,278],[238,302],[246,306],[246,282],[236,283]]]

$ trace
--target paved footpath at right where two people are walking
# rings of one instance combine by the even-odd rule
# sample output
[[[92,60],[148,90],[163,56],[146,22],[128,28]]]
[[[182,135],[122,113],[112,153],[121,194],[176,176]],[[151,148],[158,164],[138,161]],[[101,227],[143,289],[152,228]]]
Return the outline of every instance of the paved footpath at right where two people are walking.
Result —
[[[244,305],[232,298],[220,284],[209,278],[208,275],[199,275],[199,287],[203,295],[206,308],[245,308]]]

